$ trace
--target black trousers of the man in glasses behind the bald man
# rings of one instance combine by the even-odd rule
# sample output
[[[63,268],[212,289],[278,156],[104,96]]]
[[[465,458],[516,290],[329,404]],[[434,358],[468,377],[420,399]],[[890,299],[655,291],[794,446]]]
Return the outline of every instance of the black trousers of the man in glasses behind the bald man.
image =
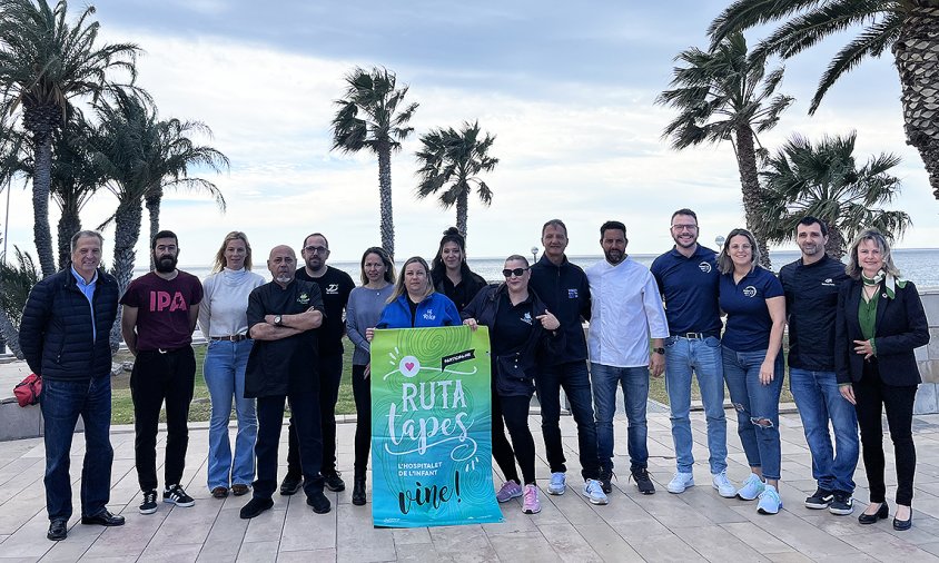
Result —
[[[339,383],[343,379],[343,355],[320,356],[317,366],[319,374],[319,424],[323,428],[324,475],[336,473],[336,402],[339,399]],[[291,407],[293,413],[293,407]],[[297,455],[297,431],[294,416],[287,428],[287,475],[297,477],[303,473],[300,456]]]

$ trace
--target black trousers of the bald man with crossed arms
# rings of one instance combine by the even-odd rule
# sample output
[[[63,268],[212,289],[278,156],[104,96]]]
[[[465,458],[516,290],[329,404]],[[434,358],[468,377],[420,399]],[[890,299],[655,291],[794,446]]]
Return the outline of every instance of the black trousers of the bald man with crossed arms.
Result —
[[[297,454],[304,476],[304,492],[307,496],[323,491],[319,462],[323,458],[323,439],[319,432],[319,401],[317,393],[288,393],[270,397],[258,397],[258,438],[255,456],[258,476],[255,481],[256,498],[270,498],[277,488],[277,448],[280,427],[284,425],[284,402],[290,401],[290,412],[297,432]]]

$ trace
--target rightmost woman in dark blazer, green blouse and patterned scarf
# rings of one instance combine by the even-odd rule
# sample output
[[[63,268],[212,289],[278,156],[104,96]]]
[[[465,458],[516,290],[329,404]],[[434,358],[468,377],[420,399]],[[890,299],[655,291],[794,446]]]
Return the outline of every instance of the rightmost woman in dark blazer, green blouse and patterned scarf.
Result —
[[[858,520],[873,524],[889,513],[880,423],[884,408],[897,462],[893,529],[909,530],[916,472],[912,415],[921,382],[913,349],[929,343],[926,313],[916,286],[898,279],[900,271],[880,231],[862,231],[849,257],[851,279],[838,293],[834,359],[841,395],[858,412],[870,488],[870,504]]]

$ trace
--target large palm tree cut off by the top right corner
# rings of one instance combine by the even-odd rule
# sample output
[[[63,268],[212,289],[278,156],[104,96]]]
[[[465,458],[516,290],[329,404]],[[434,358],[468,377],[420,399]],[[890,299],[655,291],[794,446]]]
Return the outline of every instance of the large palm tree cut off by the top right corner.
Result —
[[[708,29],[712,41],[755,26],[781,22],[758,49],[793,57],[838,32],[860,32],[829,61],[809,113],[846,72],[890,49],[900,75],[907,142],[919,150],[932,192],[939,199],[939,0],[737,0]]]

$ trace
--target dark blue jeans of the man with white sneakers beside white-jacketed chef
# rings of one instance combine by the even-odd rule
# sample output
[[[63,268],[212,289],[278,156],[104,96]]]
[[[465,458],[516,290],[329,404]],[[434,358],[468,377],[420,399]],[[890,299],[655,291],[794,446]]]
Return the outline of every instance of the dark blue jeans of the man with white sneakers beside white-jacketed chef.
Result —
[[[545,366],[535,378],[535,388],[541,404],[541,429],[544,450],[552,473],[567,471],[564,446],[561,444],[561,387],[571,402],[571,412],[577,423],[577,451],[581,457],[581,474],[584,478],[600,477],[596,457],[596,423],[591,405],[590,375],[586,362],[566,362]]]

